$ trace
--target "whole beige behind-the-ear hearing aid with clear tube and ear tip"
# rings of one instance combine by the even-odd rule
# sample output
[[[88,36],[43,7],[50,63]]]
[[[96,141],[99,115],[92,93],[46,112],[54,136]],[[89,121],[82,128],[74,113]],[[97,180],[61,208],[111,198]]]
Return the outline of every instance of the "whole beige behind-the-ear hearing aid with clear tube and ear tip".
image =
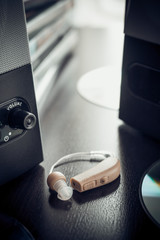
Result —
[[[53,172],[54,168],[72,161],[98,161],[96,166],[70,179],[71,186],[67,186],[66,178],[61,172]],[[62,157],[50,169],[47,184],[50,189],[58,193],[61,200],[69,200],[73,189],[84,192],[103,186],[114,181],[120,175],[120,161],[105,151],[73,153]]]

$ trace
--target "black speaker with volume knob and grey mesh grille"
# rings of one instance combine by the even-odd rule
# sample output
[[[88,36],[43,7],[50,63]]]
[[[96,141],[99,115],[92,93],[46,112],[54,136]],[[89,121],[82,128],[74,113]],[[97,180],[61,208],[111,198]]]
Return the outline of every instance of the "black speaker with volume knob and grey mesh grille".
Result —
[[[0,185],[43,160],[22,0],[0,1]]]

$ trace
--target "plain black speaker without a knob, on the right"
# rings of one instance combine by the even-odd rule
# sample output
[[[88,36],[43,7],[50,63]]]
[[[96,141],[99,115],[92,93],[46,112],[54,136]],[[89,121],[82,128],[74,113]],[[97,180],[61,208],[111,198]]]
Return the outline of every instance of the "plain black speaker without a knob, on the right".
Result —
[[[160,139],[160,2],[128,0],[119,117]]]

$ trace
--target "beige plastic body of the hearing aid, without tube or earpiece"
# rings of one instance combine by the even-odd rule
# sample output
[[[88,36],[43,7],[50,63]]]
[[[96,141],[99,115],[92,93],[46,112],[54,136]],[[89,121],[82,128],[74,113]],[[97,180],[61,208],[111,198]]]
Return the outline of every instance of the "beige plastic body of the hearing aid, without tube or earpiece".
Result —
[[[120,161],[110,156],[89,170],[72,177],[70,182],[75,190],[84,192],[114,181],[119,174]]]

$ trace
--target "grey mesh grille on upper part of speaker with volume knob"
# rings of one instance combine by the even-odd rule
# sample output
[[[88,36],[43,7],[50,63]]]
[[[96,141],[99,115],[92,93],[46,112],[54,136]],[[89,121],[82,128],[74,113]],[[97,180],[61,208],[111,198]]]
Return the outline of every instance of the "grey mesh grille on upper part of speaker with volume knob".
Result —
[[[0,0],[0,74],[30,63],[22,0]]]

